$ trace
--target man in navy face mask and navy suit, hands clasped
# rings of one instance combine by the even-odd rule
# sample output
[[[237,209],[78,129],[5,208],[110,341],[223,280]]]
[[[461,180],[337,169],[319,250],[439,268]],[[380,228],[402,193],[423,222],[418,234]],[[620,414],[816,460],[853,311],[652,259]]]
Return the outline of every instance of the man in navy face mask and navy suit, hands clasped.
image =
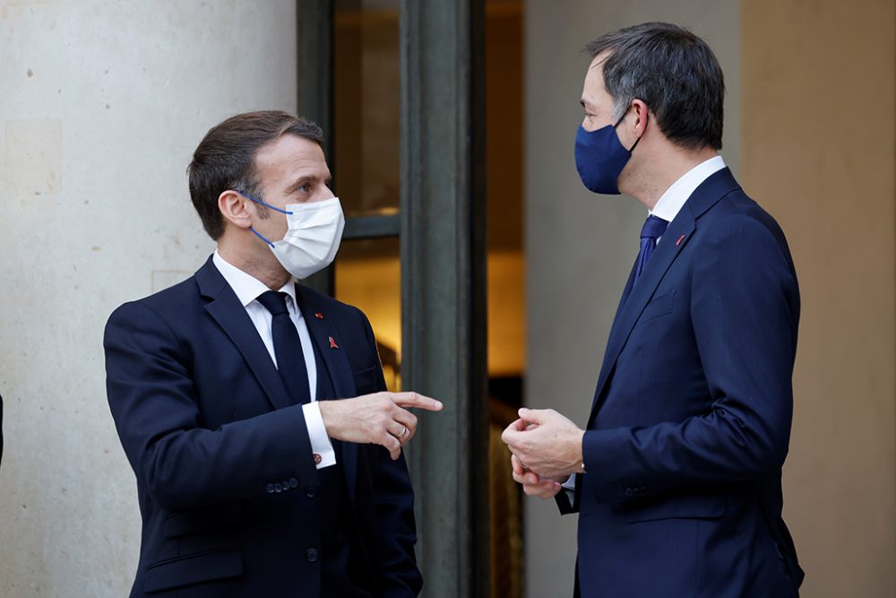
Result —
[[[588,49],[582,182],[650,216],[585,429],[522,409],[504,432],[513,477],[579,513],[582,596],[796,596],[780,480],[799,292],[784,234],[717,153],[724,83],[702,39],[645,23]]]

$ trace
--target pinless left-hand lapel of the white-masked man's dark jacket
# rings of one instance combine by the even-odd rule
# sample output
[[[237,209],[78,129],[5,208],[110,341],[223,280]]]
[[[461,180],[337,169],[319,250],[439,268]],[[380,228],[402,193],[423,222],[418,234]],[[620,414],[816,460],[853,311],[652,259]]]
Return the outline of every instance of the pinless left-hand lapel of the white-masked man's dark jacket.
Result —
[[[195,276],[202,297],[211,299],[205,304],[205,311],[237,346],[237,350],[243,355],[271,405],[275,409],[289,407],[293,403],[262,338],[246,314],[246,308],[212,263],[211,257]]]

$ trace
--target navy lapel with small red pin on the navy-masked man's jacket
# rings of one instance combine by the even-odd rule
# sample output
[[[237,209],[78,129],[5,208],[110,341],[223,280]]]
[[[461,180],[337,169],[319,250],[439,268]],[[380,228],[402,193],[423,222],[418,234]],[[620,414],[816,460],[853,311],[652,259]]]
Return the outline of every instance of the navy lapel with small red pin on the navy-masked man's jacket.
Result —
[[[616,360],[625,348],[625,342],[628,341],[635,323],[638,321],[650,298],[653,297],[653,291],[657,289],[659,282],[662,281],[669,267],[675,262],[676,257],[685,249],[687,242],[693,236],[696,228],[696,219],[703,212],[709,210],[712,205],[716,204],[719,199],[737,188],[739,188],[737,181],[731,175],[729,169],[721,169],[703,181],[694,190],[694,193],[688,198],[685,205],[682,206],[675,220],[669,223],[668,229],[660,239],[653,255],[650,256],[650,261],[644,267],[638,282],[632,284],[633,273],[629,276],[623,299],[616,311],[616,319],[613,321],[613,327],[610,329],[607,351],[604,353],[604,361],[600,367],[600,375],[598,377],[598,386],[594,391],[594,402],[591,404],[589,425],[597,414],[604,386],[607,385],[607,379],[613,368],[616,367]]]

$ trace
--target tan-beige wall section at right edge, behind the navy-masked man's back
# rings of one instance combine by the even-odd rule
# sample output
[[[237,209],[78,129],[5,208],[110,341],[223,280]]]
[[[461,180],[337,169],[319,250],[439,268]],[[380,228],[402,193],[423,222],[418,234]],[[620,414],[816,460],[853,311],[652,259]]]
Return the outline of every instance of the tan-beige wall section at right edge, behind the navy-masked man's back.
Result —
[[[743,8],[742,178],[803,298],[784,515],[809,598],[896,586],[893,4]]]

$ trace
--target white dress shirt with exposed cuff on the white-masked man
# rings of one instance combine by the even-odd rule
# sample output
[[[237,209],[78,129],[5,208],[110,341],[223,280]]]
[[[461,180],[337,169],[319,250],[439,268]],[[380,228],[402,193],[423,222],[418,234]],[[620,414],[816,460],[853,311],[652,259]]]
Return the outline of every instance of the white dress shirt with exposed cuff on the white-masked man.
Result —
[[[221,276],[227,281],[230,288],[237,294],[237,299],[246,308],[246,314],[252,320],[255,330],[262,337],[264,347],[271,355],[274,366],[277,365],[277,355],[274,353],[274,339],[271,333],[271,312],[258,302],[258,296],[267,290],[271,290],[266,284],[259,281],[251,274],[247,274],[237,268],[233,264],[229,264],[227,260],[220,256],[218,250],[215,249],[214,256],[211,261],[218,268]],[[287,308],[289,308],[289,317],[292,323],[296,325],[298,331],[298,340],[302,342],[302,352],[305,357],[305,366],[308,369],[308,389],[311,393],[311,403],[302,405],[302,411],[305,412],[305,423],[308,427],[308,438],[311,440],[311,450],[317,455],[321,455],[321,462],[317,464],[317,469],[329,467],[336,464],[336,453],[333,451],[332,442],[327,435],[327,429],[323,426],[323,417],[321,416],[321,407],[317,401],[317,363],[314,361],[314,346],[311,344],[311,334],[308,333],[308,326],[305,318],[302,317],[302,311],[297,307],[296,303],[296,284],[289,279],[289,282],[280,288],[280,292],[289,295]]]

